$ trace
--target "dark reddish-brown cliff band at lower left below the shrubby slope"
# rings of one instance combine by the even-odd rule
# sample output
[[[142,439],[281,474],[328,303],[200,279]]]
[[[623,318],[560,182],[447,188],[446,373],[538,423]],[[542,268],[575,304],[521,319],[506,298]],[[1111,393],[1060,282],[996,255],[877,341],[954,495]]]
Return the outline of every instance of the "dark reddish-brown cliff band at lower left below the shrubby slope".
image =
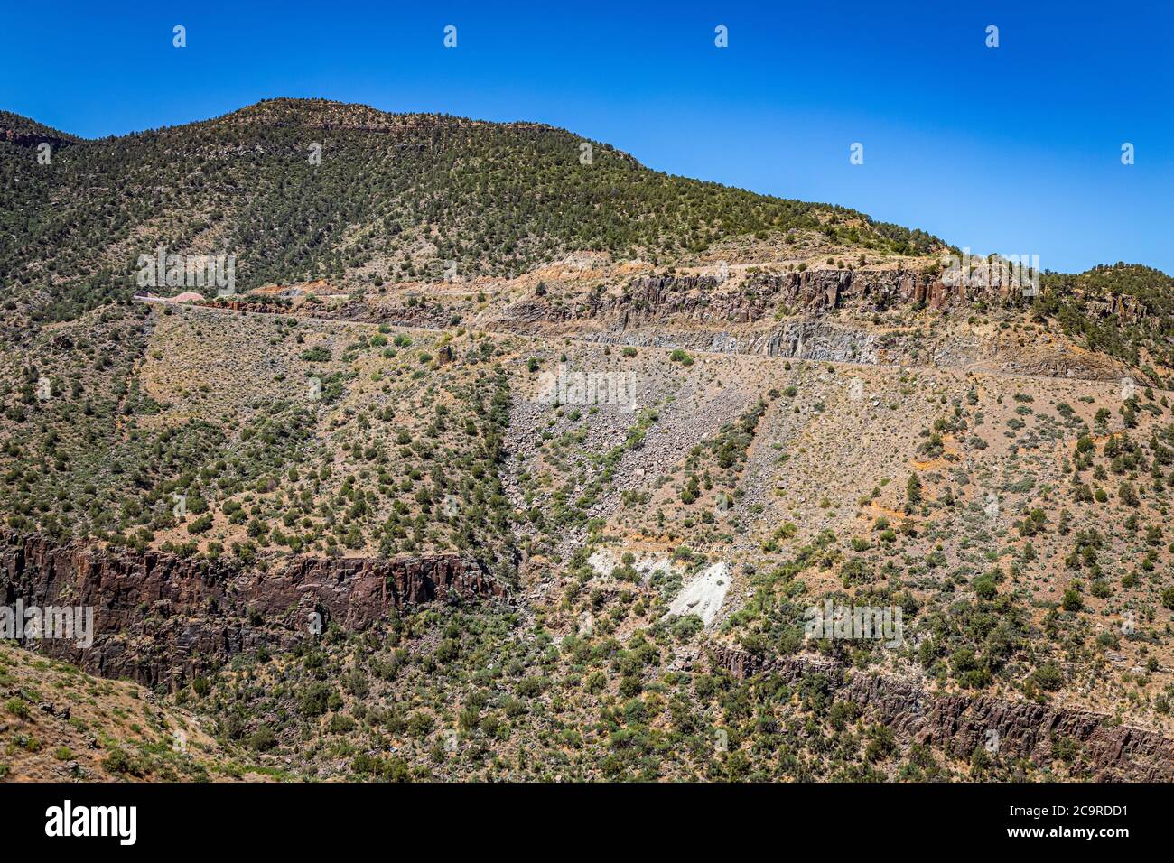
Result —
[[[94,609],[89,648],[50,639],[28,646],[148,686],[190,679],[262,646],[286,648],[331,621],[363,629],[411,605],[504,595],[502,585],[457,555],[291,558],[265,572],[160,552],[59,546],[41,535],[8,534],[0,546],[0,604]]]

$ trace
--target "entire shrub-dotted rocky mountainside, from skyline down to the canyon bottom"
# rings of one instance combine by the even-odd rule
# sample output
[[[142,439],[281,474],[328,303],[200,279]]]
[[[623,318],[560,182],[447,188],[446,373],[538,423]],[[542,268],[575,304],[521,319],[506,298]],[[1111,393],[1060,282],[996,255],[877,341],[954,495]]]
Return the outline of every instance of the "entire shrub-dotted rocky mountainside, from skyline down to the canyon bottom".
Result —
[[[190,712],[194,778],[1174,780],[1174,279],[581,143],[0,135],[0,595],[95,607],[43,669]]]

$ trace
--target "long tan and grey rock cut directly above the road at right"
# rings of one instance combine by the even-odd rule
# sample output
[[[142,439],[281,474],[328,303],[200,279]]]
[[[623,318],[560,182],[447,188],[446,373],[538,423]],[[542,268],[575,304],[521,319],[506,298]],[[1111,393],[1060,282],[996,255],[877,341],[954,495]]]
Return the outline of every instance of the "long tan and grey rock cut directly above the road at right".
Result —
[[[1000,278],[990,272],[985,282],[971,277],[954,283],[910,270],[758,271],[726,281],[648,276],[634,279],[621,294],[535,295],[485,325],[539,337],[573,333],[605,344],[819,363],[974,366],[1089,380],[1115,380],[1127,373],[1107,357],[1070,350],[1064,341],[1016,343],[1013,332],[976,331],[967,323],[971,313],[1027,302],[1021,285]],[[931,321],[912,313],[908,319],[875,319],[900,308],[945,313]]]

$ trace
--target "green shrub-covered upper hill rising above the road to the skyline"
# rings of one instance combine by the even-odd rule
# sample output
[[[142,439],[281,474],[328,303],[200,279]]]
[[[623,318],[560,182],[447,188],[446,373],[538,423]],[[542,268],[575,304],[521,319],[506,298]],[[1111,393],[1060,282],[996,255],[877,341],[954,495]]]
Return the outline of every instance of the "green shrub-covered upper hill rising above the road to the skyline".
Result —
[[[47,166],[0,137],[0,271],[34,318],[60,319],[128,297],[139,255],[156,245],[234,254],[243,288],[359,270],[376,283],[439,277],[448,265],[515,274],[568,250],[656,255],[792,227],[939,245],[843,208],[668,176],[599,142],[585,164],[581,143],[533,123],[322,100],[82,141]]]

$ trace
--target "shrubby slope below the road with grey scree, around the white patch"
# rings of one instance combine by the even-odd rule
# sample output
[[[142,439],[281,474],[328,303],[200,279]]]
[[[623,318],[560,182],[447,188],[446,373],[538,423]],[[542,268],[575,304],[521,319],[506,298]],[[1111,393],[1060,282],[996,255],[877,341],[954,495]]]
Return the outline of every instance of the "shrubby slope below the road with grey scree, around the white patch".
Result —
[[[506,363],[520,589],[242,656],[209,677],[223,728],[366,780],[1136,777],[1099,736],[1169,733],[1168,393],[533,348]],[[632,369],[637,410],[542,402],[564,356]],[[670,614],[715,564],[715,622]],[[828,600],[899,608],[903,639],[805,640]],[[858,697],[872,674],[932,694],[903,720],[926,740]]]

